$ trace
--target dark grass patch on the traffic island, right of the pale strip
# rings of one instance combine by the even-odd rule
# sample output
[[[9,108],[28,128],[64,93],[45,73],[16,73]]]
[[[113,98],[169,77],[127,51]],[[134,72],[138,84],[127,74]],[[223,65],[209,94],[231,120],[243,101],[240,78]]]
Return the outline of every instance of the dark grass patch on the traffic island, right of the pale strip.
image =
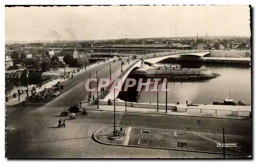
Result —
[[[161,147],[188,150],[208,151],[208,152],[223,152],[223,148],[217,147],[217,144],[207,140],[200,135],[177,130],[161,130],[151,129],[150,134],[141,133],[143,128],[132,128],[129,145]],[[148,140],[148,145],[138,144],[138,140]],[[232,150],[226,150],[227,153],[238,153]],[[240,153],[242,154],[242,153]]]

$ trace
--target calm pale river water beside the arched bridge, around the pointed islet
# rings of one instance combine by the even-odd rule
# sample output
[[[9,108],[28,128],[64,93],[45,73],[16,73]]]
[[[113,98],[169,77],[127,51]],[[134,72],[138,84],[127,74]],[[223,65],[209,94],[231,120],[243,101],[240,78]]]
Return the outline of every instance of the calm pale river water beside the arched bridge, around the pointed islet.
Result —
[[[165,63],[164,63],[165,62]],[[157,63],[159,66],[182,66],[186,68],[207,68],[211,72],[221,76],[201,82],[168,82],[167,87],[170,91],[167,93],[168,103],[189,103],[194,104],[212,104],[212,102],[223,102],[223,99],[231,99],[235,102],[241,100],[250,104],[251,99],[251,71],[249,66],[223,65],[223,64],[191,64],[164,61]],[[165,103],[165,93],[159,91],[159,102]],[[131,93],[127,92],[130,96]],[[120,95],[120,99],[122,99]],[[134,98],[133,98],[134,99]],[[142,91],[137,102],[156,103],[157,92]]]

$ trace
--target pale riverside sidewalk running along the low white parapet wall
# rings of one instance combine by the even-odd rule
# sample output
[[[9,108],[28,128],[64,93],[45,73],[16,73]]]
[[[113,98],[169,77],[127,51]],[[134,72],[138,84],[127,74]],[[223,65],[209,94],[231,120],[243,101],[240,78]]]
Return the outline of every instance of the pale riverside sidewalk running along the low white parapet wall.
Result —
[[[97,105],[94,105],[92,102],[90,102],[90,103],[82,103],[82,107],[86,107],[88,110],[114,112],[113,105],[99,105],[99,109],[97,109]],[[174,110],[167,110],[167,113],[165,113],[165,110],[163,109],[159,109],[159,111],[157,112],[155,108],[139,108],[139,107],[129,107],[129,106],[126,107],[126,111],[125,111],[125,106],[116,106],[116,112],[251,120],[249,117],[242,117],[242,116],[227,116],[227,115],[221,115],[221,114],[196,113],[196,112],[179,113]]]

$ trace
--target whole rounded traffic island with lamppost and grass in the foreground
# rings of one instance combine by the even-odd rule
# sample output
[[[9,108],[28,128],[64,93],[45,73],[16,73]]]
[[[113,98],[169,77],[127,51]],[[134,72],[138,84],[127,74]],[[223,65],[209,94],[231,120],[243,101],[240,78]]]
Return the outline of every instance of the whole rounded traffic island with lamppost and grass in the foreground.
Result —
[[[108,126],[97,130],[93,134],[94,140],[106,145],[223,154],[223,148],[217,146],[222,140],[213,141],[194,132],[124,126],[116,128],[120,127],[124,131],[122,139],[109,139],[114,127]],[[235,147],[226,147],[225,154],[246,155]]]

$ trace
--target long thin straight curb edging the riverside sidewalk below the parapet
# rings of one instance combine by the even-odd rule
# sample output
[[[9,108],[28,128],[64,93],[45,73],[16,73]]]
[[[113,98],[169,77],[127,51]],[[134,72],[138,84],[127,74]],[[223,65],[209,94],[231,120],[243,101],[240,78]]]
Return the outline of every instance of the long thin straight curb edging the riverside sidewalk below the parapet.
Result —
[[[101,111],[101,112],[114,112],[114,111],[106,111],[95,108],[87,108],[89,111]],[[231,120],[244,120],[251,121],[251,119],[241,119],[241,118],[225,118],[225,117],[207,117],[207,116],[190,116],[190,115],[171,115],[171,114],[162,114],[162,113],[147,113],[147,112],[132,112],[132,111],[116,111],[120,113],[137,113],[137,114],[150,114],[150,115],[163,115],[163,116],[182,116],[182,117],[197,117],[197,118],[216,118],[216,119],[231,119]]]

